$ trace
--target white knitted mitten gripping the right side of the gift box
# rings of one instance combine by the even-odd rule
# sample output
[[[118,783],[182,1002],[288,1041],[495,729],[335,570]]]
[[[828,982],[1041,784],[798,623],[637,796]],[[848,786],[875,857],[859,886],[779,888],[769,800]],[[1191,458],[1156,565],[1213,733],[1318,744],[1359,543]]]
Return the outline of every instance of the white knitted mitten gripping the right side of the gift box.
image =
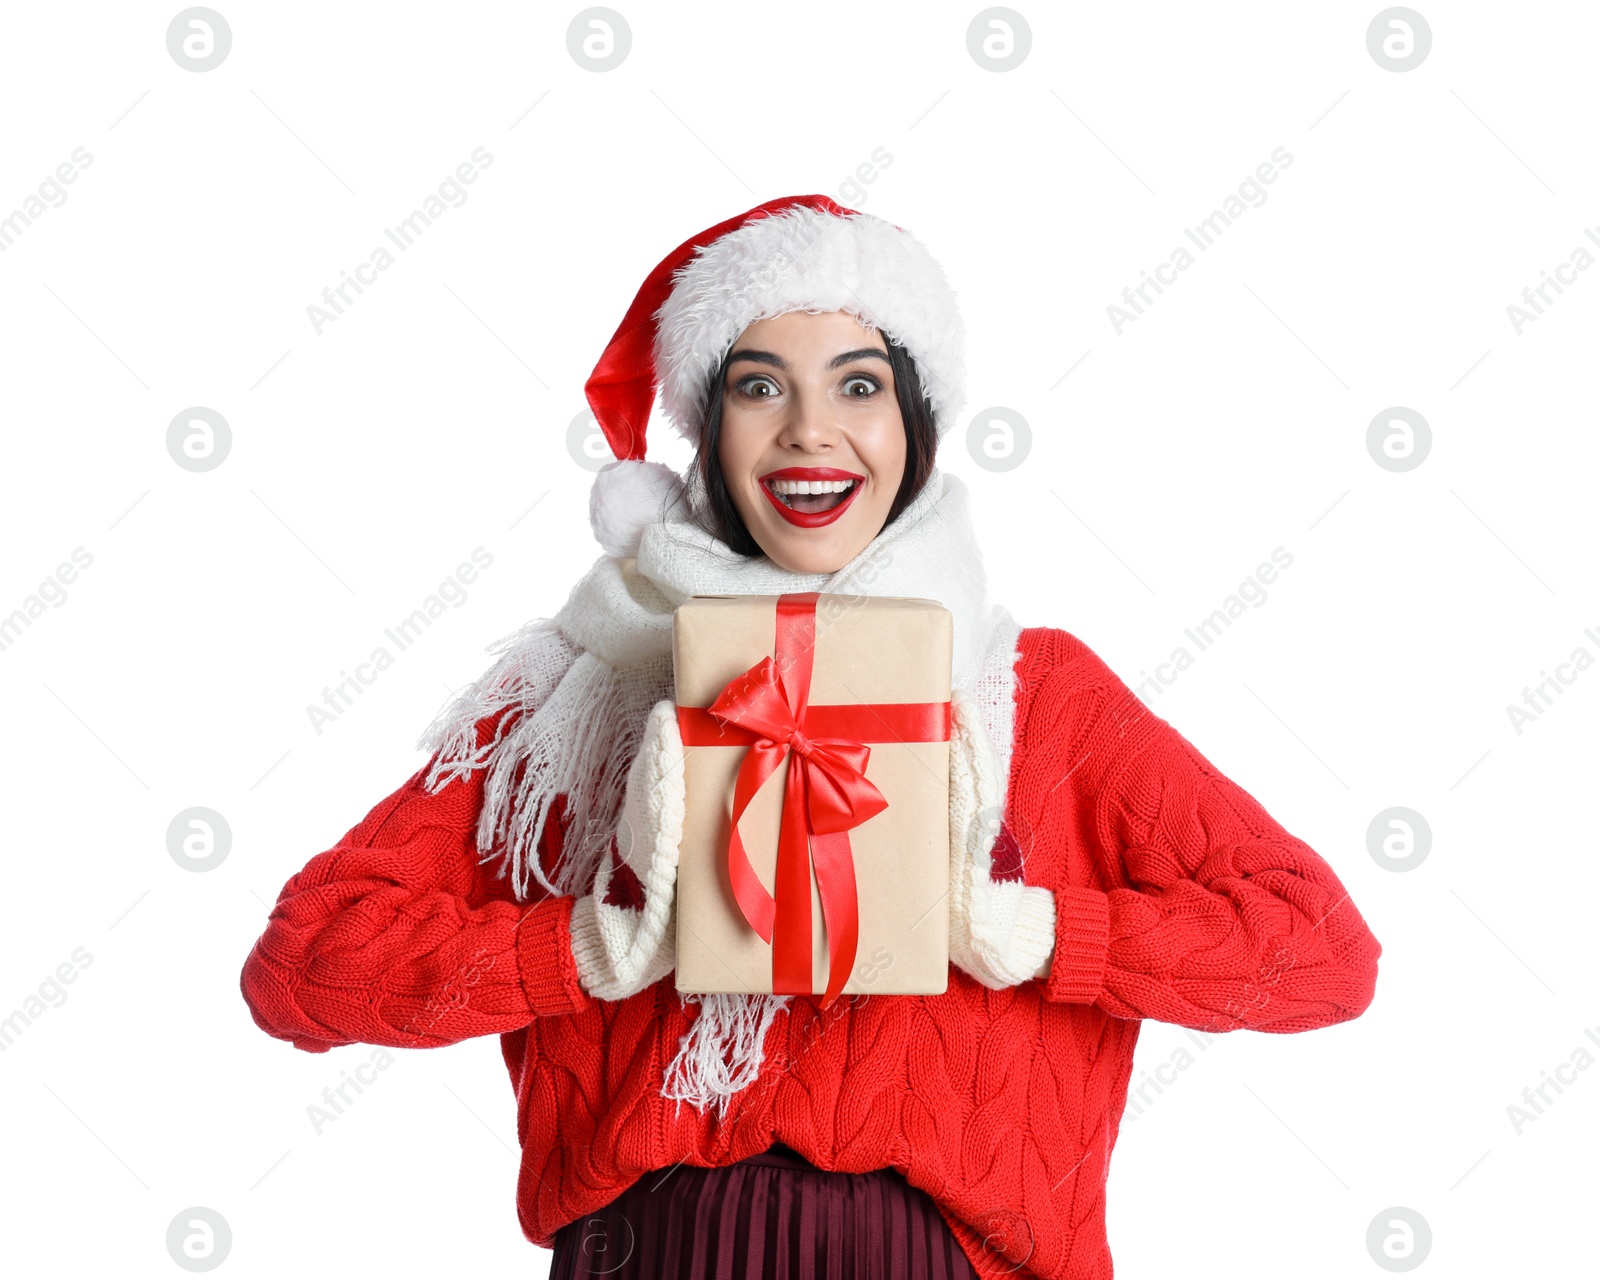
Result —
[[[950,962],[997,990],[1045,978],[1056,946],[1056,896],[1019,869],[994,878],[1003,781],[978,707],[952,693]]]

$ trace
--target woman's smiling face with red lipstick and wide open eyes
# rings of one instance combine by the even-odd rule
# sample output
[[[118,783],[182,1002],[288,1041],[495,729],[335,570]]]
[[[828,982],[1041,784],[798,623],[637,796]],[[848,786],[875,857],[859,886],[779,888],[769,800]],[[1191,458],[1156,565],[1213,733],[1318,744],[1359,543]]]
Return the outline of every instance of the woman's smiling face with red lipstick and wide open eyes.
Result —
[[[842,310],[757,320],[728,358],[717,458],[773,563],[842,570],[878,536],[906,472],[883,336]]]

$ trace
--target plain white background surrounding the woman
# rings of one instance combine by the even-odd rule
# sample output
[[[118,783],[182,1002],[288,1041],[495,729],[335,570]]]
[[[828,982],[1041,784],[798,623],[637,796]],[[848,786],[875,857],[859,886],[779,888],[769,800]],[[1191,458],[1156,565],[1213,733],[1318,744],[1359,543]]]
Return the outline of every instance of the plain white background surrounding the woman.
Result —
[[[930,246],[966,419],[1030,424],[1008,472],[941,453],[1019,621],[1138,685],[1293,555],[1146,696],[1331,862],[1378,995],[1218,1037],[1125,1122],[1118,1275],[1381,1275],[1390,1206],[1432,1229],[1424,1275],[1592,1269],[1600,1070],[1520,1133],[1507,1106],[1600,1024],[1600,670],[1522,733],[1507,704],[1600,656],[1600,270],[1520,334],[1507,306],[1600,253],[1600,11],[1418,3],[1408,72],[1368,53],[1378,3],[1026,5],[1032,50],[994,72],[976,5],[618,0],[603,74],[568,53],[579,6],[218,0],[203,74],[168,54],[178,5],[10,6],[0,213],[93,163],[0,253],[0,614],[93,565],[0,651],[0,1014],[91,955],[0,1054],[5,1269],[178,1274],[168,1222],[203,1205],[234,1275],[546,1272],[493,1038],[397,1054],[318,1136],[307,1106],[371,1050],[270,1040],[238,971],[282,883],[597,554],[566,427],[645,274],[803,192]],[[466,203],[317,334],[307,306],[475,147]],[[1118,336],[1107,306],[1275,147],[1266,203]],[[203,474],[166,451],[195,405],[232,429]],[[1366,448],[1397,405],[1432,429],[1406,472]],[[307,704],[475,547],[466,603],[317,733]],[[166,851],[194,805],[232,830],[206,874]],[[1408,872],[1368,851],[1397,805],[1432,830]],[[1146,1027],[1134,1082],[1181,1043]]]

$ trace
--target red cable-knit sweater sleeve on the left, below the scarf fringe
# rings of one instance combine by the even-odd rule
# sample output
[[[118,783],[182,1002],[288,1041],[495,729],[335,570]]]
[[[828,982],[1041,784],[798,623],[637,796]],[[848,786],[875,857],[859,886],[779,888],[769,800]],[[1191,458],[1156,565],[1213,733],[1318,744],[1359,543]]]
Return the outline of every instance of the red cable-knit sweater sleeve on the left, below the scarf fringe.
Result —
[[[240,989],[256,1026],[325,1053],[432,1048],[590,1003],[571,898],[520,904],[478,862],[483,771],[438,794],[418,770],[278,894]]]

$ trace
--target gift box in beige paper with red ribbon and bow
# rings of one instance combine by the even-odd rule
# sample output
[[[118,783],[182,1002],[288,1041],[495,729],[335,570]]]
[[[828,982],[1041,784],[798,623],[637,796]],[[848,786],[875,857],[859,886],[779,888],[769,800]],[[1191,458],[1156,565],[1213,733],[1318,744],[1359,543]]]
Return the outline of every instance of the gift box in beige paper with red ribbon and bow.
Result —
[[[950,613],[701,595],[672,619],[685,819],[677,989],[949,981]]]

